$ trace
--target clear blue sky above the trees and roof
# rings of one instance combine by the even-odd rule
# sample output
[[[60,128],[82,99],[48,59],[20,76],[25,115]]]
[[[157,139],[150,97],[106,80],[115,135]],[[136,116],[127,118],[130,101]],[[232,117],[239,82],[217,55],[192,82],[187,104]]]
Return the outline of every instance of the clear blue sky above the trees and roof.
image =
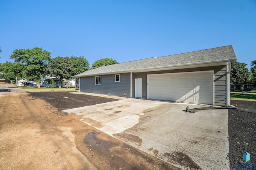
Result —
[[[256,0],[0,0],[0,63],[33,47],[91,65],[225,45],[256,59]]]

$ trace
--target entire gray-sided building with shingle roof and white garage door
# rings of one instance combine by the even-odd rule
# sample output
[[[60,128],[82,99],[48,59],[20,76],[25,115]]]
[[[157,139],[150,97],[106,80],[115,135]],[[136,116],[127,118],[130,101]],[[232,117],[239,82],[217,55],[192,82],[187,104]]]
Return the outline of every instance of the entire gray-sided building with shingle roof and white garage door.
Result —
[[[230,105],[232,45],[130,61],[72,76],[80,78],[80,92]]]

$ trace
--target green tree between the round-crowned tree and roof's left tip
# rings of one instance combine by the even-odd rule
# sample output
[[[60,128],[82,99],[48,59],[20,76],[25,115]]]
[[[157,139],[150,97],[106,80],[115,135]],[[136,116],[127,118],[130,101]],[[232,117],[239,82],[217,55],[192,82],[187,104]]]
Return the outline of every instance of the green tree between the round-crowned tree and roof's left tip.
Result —
[[[84,57],[71,56],[70,61],[74,66],[74,75],[89,70],[89,62]]]

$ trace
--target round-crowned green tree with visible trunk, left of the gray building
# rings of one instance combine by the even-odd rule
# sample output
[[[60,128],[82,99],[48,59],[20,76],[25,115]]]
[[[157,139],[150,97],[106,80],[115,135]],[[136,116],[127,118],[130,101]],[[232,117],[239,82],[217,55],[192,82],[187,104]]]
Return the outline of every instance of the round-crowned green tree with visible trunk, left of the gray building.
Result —
[[[47,73],[60,79],[70,79],[74,74],[74,66],[69,57],[56,57],[48,63]]]

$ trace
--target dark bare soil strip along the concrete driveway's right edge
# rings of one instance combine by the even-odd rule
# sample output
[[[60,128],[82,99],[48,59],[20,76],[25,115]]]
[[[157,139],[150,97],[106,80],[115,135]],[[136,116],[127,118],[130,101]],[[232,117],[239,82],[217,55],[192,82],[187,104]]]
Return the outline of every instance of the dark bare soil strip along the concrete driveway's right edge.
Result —
[[[230,169],[238,169],[238,164],[256,163],[256,102],[231,100],[238,109],[228,109],[228,140]],[[245,162],[243,154],[250,153]]]

